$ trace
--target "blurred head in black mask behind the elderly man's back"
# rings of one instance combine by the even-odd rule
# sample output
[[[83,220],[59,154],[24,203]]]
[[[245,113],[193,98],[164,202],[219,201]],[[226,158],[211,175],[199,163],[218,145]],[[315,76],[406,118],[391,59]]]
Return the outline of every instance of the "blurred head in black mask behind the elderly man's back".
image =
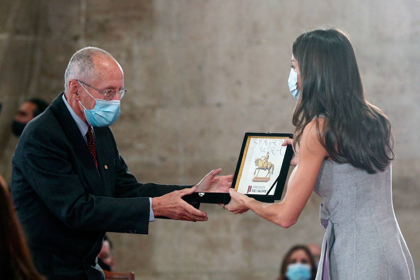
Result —
[[[48,103],[42,99],[29,99],[23,102],[12,123],[12,132],[16,137],[21,136],[22,131],[30,120],[47,109]]]

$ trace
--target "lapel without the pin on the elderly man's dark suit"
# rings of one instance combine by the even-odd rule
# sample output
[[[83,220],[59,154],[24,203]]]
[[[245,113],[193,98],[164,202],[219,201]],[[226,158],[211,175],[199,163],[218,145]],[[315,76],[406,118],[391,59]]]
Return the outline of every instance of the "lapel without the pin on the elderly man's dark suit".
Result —
[[[87,144],[84,141],[76,122],[68,111],[66,104],[64,104],[62,94],[58,95],[58,97],[54,99],[51,104],[51,109],[53,110],[55,117],[60,122],[64,133],[66,133],[68,141],[70,141],[73,150],[79,159],[81,170],[84,173],[84,177],[89,184],[92,194],[103,196],[104,186],[95,162],[93,161],[92,154],[89,152]]]

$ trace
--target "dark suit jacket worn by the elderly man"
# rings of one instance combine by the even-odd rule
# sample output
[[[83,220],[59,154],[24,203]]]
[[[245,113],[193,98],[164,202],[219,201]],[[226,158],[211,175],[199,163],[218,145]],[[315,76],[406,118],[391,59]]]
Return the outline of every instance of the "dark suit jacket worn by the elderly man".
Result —
[[[61,95],[19,139],[13,202],[40,273],[49,279],[105,279],[96,264],[105,232],[147,234],[148,197],[191,186],[138,183],[108,127],[94,128],[96,168]]]

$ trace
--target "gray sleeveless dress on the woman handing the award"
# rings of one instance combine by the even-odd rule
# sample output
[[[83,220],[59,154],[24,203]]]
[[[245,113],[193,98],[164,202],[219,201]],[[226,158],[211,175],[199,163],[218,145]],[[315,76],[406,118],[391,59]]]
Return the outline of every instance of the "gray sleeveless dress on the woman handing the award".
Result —
[[[391,166],[368,174],[324,160],[314,191],[326,231],[317,280],[415,279],[392,206]]]

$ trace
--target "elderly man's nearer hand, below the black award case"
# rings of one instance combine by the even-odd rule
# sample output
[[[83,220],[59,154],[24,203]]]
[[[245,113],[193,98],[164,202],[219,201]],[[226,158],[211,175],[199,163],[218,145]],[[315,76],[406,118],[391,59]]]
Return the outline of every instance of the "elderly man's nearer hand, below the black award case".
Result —
[[[195,209],[181,197],[192,194],[197,187],[184,188],[159,197],[152,198],[152,211],[155,217],[163,216],[172,220],[207,221],[207,213]]]

